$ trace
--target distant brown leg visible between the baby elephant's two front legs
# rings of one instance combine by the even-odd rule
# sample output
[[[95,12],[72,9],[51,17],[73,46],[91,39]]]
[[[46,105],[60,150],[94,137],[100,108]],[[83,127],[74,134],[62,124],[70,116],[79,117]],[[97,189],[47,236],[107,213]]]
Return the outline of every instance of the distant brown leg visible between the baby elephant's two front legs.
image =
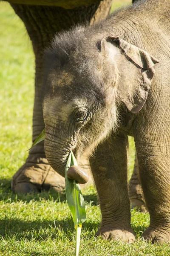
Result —
[[[146,205],[144,201],[144,195],[142,192],[142,187],[139,181],[139,170],[138,170],[138,160],[137,154],[135,155],[135,165],[133,169],[132,177],[129,181],[129,199],[131,208],[137,207],[141,212],[146,212]]]

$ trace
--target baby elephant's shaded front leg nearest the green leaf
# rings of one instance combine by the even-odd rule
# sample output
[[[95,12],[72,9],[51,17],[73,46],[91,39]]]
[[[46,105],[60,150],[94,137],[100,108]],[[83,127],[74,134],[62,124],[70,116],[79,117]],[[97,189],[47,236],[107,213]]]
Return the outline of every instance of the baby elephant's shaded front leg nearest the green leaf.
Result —
[[[109,137],[99,145],[90,164],[102,212],[102,224],[96,235],[133,242],[127,191],[127,137]]]

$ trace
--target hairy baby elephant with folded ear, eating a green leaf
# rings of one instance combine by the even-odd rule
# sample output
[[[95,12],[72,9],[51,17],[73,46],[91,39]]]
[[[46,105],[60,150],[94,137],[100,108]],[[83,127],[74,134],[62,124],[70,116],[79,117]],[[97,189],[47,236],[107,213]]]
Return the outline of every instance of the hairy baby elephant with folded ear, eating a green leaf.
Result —
[[[104,239],[135,240],[127,193],[133,136],[150,226],[170,241],[170,1],[143,0],[91,27],[54,38],[45,51],[45,154],[65,175],[68,154],[89,154]]]

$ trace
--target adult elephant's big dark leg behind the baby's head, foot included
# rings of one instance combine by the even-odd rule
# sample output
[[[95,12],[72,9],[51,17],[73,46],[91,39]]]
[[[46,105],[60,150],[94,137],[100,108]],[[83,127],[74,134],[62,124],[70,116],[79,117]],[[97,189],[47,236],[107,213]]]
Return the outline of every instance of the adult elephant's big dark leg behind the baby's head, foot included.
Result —
[[[41,105],[43,49],[48,46],[56,32],[69,29],[76,24],[86,24],[87,21],[93,24],[99,19],[105,18],[109,13],[111,2],[112,0],[104,0],[90,6],[69,10],[54,6],[11,5],[24,22],[35,53],[33,141],[44,128]],[[64,178],[54,172],[46,160],[43,142],[30,150],[26,163],[16,172],[12,180],[13,191],[21,193],[40,191],[41,189],[48,190],[50,187],[60,191],[64,186]]]

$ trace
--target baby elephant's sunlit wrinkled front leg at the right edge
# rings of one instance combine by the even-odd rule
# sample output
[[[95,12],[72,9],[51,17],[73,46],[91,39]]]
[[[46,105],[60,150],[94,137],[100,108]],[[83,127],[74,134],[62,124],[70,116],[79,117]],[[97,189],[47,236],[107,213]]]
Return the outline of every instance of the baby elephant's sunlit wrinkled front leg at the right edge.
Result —
[[[150,214],[150,225],[143,237],[167,243],[170,242],[170,137],[156,131],[142,140],[136,137],[135,141],[140,180]]]

